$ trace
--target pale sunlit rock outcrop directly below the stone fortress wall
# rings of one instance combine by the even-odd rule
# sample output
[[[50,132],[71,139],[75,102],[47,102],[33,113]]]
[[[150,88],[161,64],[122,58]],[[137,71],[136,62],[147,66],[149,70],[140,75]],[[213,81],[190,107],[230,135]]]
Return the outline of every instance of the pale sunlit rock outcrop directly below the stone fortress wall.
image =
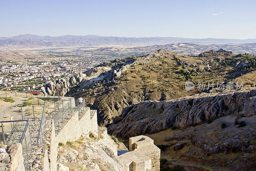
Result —
[[[63,169],[124,171],[124,164],[117,157],[116,144],[109,136],[104,139],[81,137],[72,145],[59,147],[59,154],[59,166]]]

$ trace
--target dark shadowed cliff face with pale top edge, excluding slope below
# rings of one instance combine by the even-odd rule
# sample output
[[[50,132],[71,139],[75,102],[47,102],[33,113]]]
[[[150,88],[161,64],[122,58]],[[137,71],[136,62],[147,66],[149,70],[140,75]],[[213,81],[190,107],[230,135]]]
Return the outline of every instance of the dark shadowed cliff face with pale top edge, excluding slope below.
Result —
[[[201,93],[170,101],[142,101],[123,109],[108,132],[128,138],[171,127],[188,127],[206,120],[237,114],[256,114],[256,89],[227,93]]]

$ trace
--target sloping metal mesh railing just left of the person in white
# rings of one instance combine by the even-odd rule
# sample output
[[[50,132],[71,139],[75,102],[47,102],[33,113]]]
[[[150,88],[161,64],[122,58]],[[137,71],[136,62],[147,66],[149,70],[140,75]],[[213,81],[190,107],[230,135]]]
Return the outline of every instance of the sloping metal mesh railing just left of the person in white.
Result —
[[[72,108],[71,100],[68,101],[65,106],[63,106],[51,119],[54,120],[54,126],[60,126],[60,123],[63,122],[63,118],[66,118],[67,112]]]

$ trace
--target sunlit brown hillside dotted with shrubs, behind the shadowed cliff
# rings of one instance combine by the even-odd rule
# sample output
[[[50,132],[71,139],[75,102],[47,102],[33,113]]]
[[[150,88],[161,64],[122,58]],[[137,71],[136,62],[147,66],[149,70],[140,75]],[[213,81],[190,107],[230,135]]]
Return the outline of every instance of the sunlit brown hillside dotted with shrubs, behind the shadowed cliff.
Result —
[[[99,72],[100,75],[83,79],[72,86],[67,95],[82,95],[87,106],[97,109],[99,124],[107,125],[121,114],[124,107],[133,103],[172,100],[201,92],[220,92],[218,89],[208,89],[208,82],[216,88],[218,82],[227,84],[256,69],[255,56],[252,55],[236,55],[220,49],[204,52],[200,56],[179,55],[159,49],[145,56],[102,63],[93,69],[105,68]],[[186,81],[193,82],[195,88],[186,91]],[[198,89],[200,82],[205,83],[204,90]],[[251,77],[244,86],[254,84],[255,78]]]

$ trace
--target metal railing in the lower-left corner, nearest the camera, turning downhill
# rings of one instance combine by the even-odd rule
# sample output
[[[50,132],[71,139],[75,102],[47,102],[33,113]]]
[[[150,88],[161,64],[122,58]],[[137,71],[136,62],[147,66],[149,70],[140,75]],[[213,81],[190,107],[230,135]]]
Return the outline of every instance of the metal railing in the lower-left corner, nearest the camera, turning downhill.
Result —
[[[3,123],[14,123],[16,124],[13,126],[12,131],[5,131],[5,133],[10,133],[5,141],[4,137],[4,126]],[[20,130],[23,125],[17,125],[18,122],[26,122],[24,130]],[[29,121],[28,120],[16,120],[16,121],[0,121],[2,125],[2,134],[3,134],[3,142],[4,144],[11,144],[15,142],[21,143],[22,146],[22,155],[24,157],[24,165],[25,167],[28,166],[28,153],[32,151],[32,144],[31,144],[31,137],[30,137],[30,128],[29,128]],[[15,139],[17,133],[22,132],[19,139]],[[18,141],[19,140],[19,141]]]

